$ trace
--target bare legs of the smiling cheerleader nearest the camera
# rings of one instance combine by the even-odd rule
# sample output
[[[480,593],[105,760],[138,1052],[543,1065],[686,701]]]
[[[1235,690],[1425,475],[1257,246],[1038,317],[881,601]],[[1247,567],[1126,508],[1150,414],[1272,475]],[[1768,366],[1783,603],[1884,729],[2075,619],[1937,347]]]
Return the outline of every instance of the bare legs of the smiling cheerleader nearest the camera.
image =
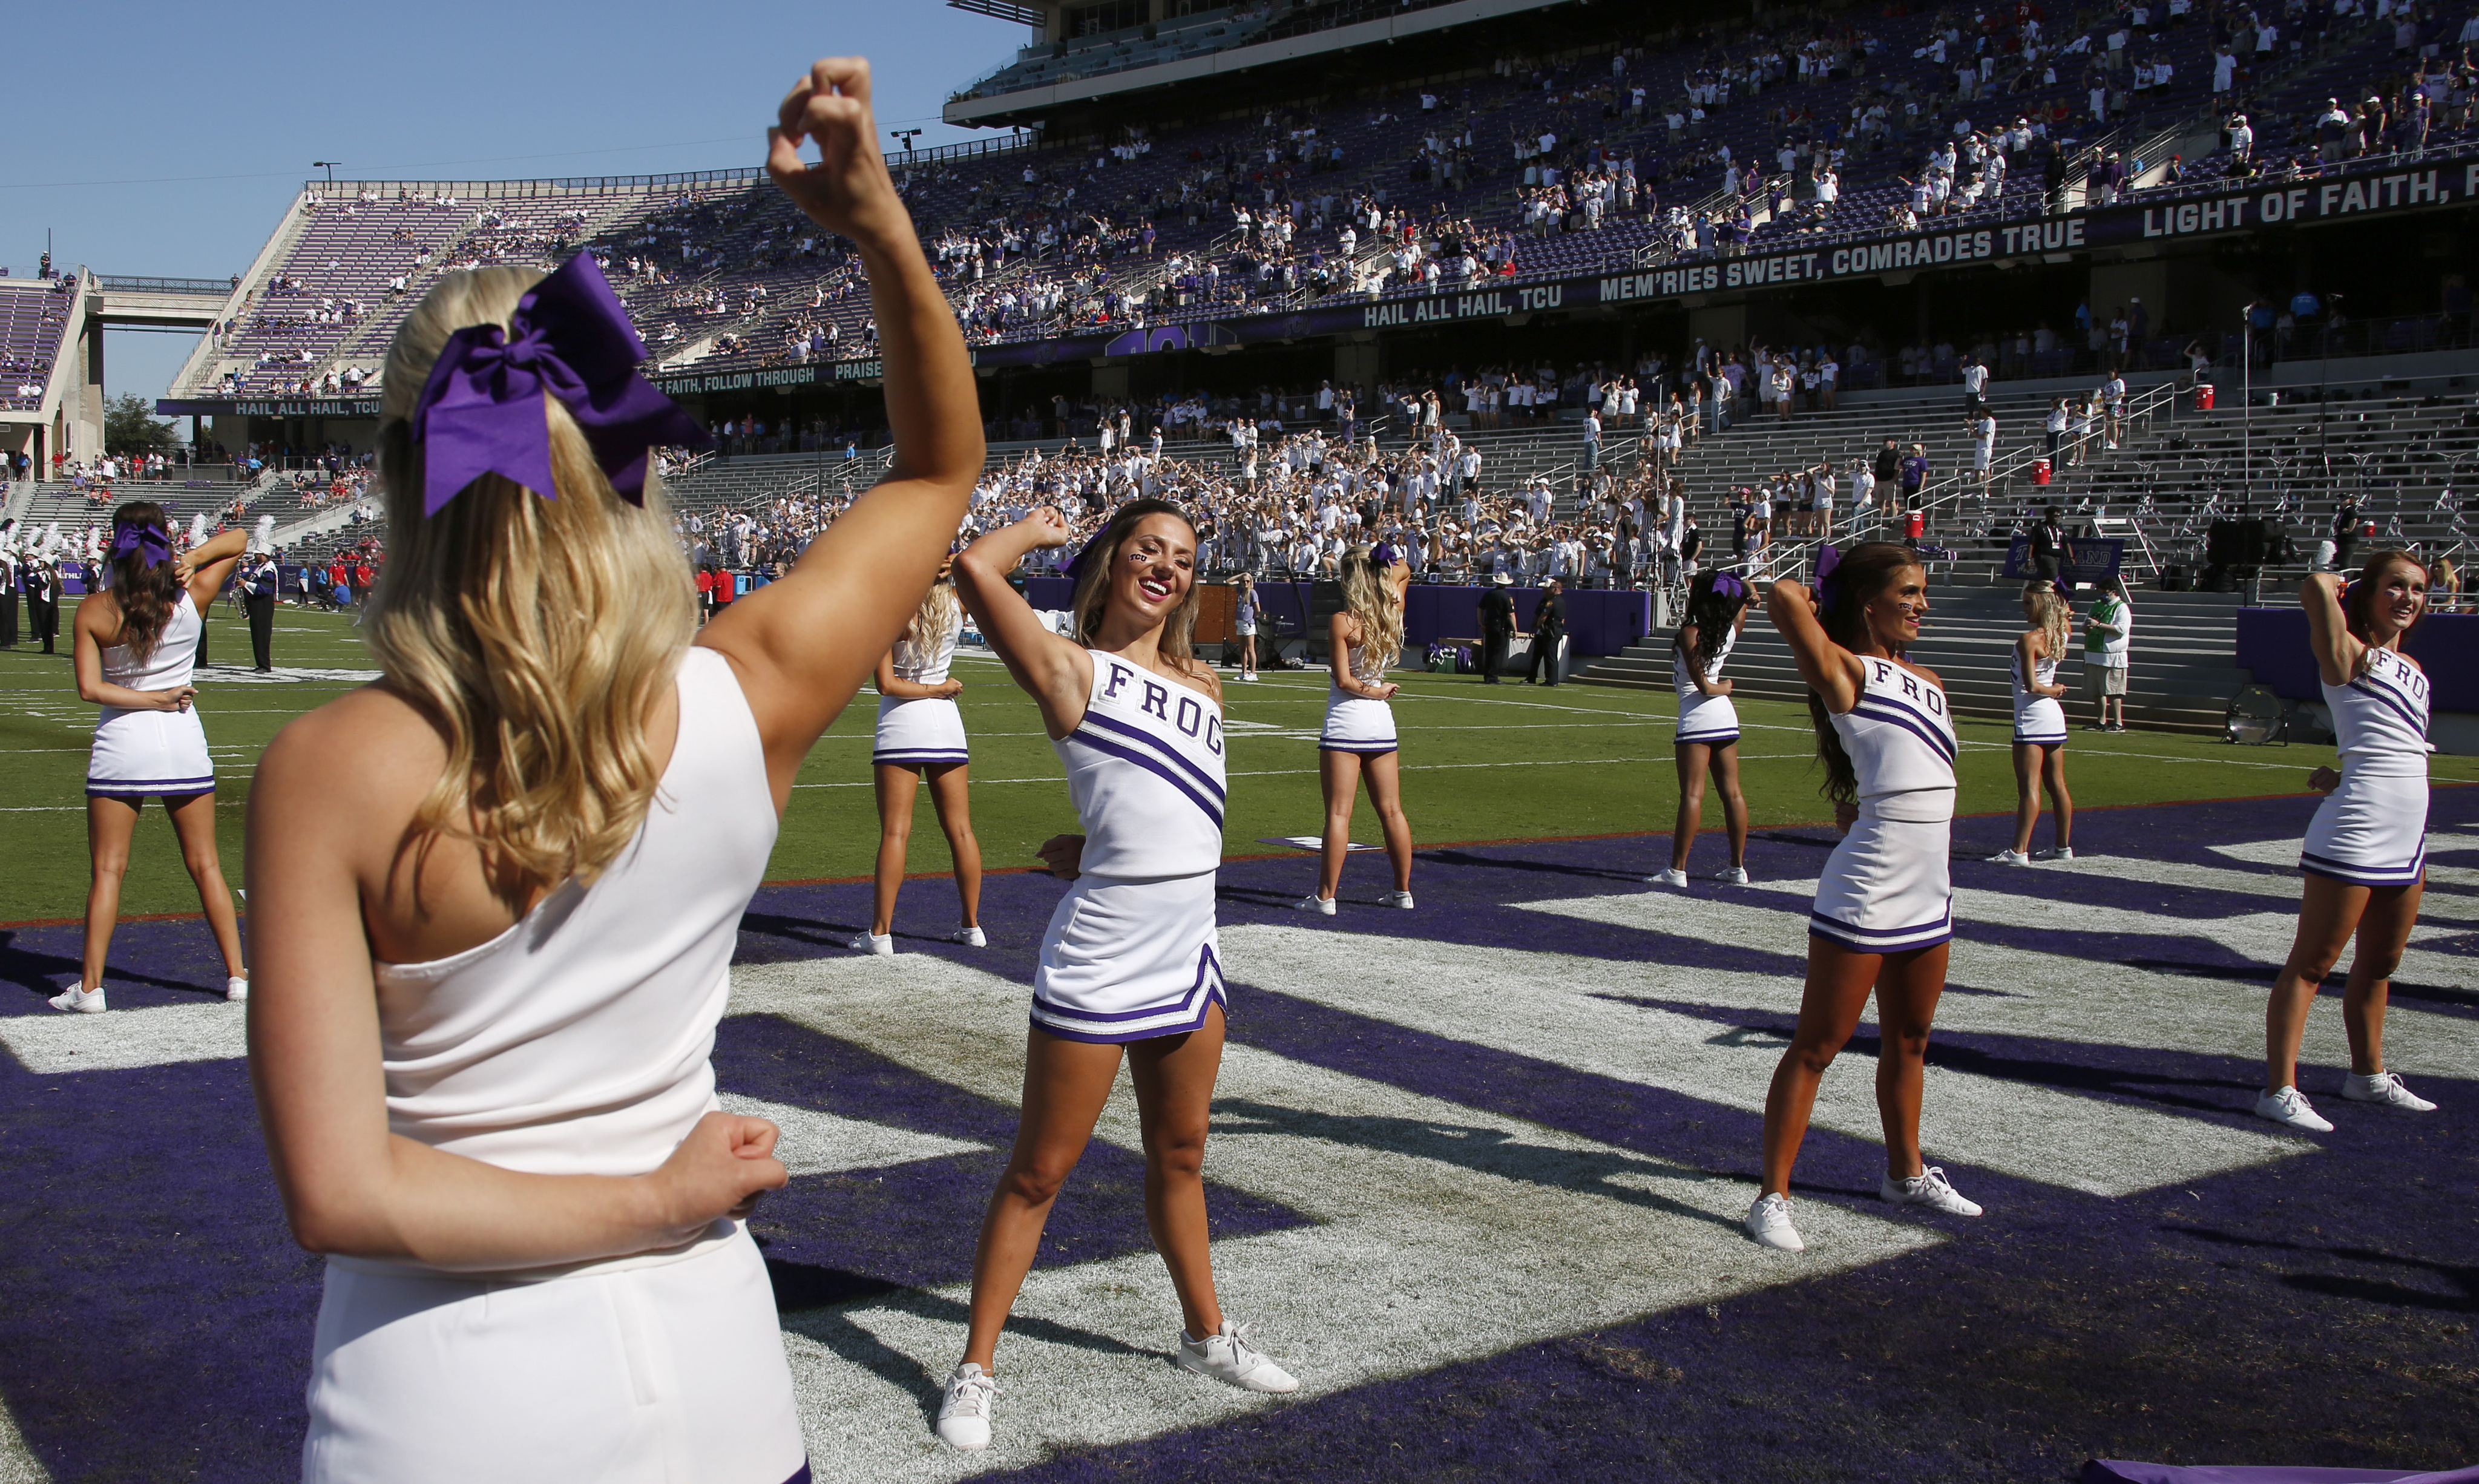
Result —
[[[1205,1226],[1205,1125],[1222,1070],[1222,1006],[1207,1008],[1197,1031],[1125,1045],[1068,1041],[1034,1026],[1024,1048],[1016,1147],[982,1216],[982,1241],[972,1249],[967,1365],[997,1370],[1006,1311],[1034,1271],[1059,1187],[1093,1142],[1093,1125],[1118,1080],[1121,1050],[1128,1053],[1145,1140],[1145,1229],[1170,1268],[1190,1338],[1222,1328]]]

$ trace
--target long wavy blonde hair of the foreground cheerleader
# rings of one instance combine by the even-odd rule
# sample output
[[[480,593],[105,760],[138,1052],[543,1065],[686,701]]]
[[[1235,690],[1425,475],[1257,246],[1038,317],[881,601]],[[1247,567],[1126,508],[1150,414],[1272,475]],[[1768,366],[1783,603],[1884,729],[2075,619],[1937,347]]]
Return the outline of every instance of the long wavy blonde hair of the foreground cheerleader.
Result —
[[[558,491],[486,473],[421,513],[412,416],[431,362],[456,330],[506,327],[540,277],[449,273],[397,327],[379,404],[387,570],[364,624],[387,686],[449,748],[414,818],[419,842],[473,840],[516,902],[592,882],[637,835],[662,780],[645,716],[697,632],[652,471],[645,505],[622,500],[558,399],[545,396]]]

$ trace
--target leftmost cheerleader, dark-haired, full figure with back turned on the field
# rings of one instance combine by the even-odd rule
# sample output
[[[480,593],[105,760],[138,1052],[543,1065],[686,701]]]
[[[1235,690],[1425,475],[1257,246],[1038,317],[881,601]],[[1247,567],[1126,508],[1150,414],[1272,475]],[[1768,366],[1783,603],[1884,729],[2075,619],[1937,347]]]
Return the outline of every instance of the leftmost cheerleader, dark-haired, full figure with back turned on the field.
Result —
[[[77,699],[102,706],[87,756],[87,944],[77,984],[52,996],[55,1011],[104,1008],[104,956],[121,919],[121,877],[139,810],[161,798],[181,837],[181,865],[198,884],[198,907],[223,954],[223,998],[250,998],[240,966],[240,922],[216,857],[216,763],[191,699],[191,669],[206,632],[206,605],[240,560],[245,530],[176,557],[164,505],[131,500],[112,513],[112,585],[77,605],[69,639]]]

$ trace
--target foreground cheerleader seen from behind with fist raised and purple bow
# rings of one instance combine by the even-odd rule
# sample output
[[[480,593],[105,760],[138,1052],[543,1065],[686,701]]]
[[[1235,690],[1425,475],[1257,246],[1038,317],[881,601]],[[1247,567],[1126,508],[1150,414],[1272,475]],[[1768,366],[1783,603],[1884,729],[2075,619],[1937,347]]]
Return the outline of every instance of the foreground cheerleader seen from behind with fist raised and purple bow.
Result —
[[[768,173],[868,265],[897,456],[704,629],[649,471],[704,436],[590,255],[449,273],[387,349],[387,679],[250,790],[250,1075],[327,1254],[305,1484],[811,1477],[744,1224],[776,1127],[716,1105],[709,1048],[793,778],[984,448],[868,64],[778,119]]]

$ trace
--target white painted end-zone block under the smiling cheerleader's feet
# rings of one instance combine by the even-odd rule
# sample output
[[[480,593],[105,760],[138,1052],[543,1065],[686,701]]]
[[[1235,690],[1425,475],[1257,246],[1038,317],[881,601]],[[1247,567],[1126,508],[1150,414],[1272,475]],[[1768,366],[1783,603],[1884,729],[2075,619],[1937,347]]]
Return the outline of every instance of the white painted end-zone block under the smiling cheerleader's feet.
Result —
[[[1026,993],[930,954],[811,959],[736,969],[731,1013],[776,1013],[1014,1105]],[[1135,1150],[1123,1088],[1096,1137]],[[1215,1241],[1222,1303],[1301,1377],[1301,1400],[1941,1241],[1815,1202],[1800,1209],[1807,1251],[1772,1254],[1740,1234],[1738,1179],[1237,1043],[1205,1169],[1314,1221]],[[957,1234],[959,1251],[969,1241]],[[1178,1306],[1160,1259],[1135,1254],[1026,1278],[1002,1340],[997,1444],[942,1449],[922,1412],[962,1353],[964,1298],[957,1283],[786,1316],[821,1479],[957,1479],[1284,1405],[1165,1363]]]

